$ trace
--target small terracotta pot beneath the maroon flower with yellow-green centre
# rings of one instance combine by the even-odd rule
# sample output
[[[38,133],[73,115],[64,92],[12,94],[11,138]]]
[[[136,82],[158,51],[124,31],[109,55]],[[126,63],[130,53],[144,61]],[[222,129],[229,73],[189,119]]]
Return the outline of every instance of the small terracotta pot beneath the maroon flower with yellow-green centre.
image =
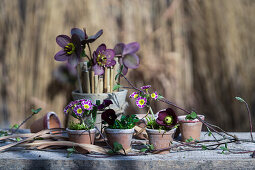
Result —
[[[176,129],[172,129],[169,131],[146,129],[146,132],[148,134],[149,143],[152,144],[155,149],[163,149],[171,145],[175,130]],[[169,153],[169,150],[161,151],[158,153],[167,154]]]

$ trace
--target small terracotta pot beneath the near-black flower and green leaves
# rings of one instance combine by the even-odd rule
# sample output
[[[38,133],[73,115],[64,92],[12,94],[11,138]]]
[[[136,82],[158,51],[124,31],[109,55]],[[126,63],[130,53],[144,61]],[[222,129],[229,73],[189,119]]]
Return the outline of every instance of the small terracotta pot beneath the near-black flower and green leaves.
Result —
[[[121,144],[126,152],[131,149],[134,129],[105,129],[108,143],[113,147],[114,142]]]

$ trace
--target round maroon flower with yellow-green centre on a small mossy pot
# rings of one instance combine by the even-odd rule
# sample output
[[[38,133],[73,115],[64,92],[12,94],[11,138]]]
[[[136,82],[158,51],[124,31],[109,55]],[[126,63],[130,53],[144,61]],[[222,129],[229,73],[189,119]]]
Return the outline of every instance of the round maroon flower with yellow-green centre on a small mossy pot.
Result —
[[[171,108],[161,110],[158,113],[156,123],[167,128],[172,128],[177,124],[177,115]]]

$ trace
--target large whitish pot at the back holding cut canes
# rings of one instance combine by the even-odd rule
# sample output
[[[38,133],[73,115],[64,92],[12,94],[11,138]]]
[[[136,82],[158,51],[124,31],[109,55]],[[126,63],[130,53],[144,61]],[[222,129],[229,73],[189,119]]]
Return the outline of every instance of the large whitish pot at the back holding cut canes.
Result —
[[[117,114],[124,113],[128,103],[126,102],[127,90],[121,89],[118,92],[113,93],[79,93],[77,90],[72,92],[72,96],[74,100],[79,99],[88,99],[91,100],[92,103],[96,103],[97,100],[100,100],[100,103],[103,103],[105,99],[111,100],[113,104],[109,106],[110,109],[115,110]],[[98,111],[98,114],[102,112]],[[96,118],[96,126],[98,129],[101,129],[101,116],[98,115]]]

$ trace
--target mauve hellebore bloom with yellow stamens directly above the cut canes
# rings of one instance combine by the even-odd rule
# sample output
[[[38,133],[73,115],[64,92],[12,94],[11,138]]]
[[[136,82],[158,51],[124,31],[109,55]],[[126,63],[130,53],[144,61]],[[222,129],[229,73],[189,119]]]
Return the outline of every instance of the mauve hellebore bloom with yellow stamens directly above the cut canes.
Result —
[[[111,67],[116,64],[114,55],[114,50],[106,49],[105,44],[101,44],[97,50],[93,52],[93,70],[95,71],[95,75],[104,74],[104,67]]]

